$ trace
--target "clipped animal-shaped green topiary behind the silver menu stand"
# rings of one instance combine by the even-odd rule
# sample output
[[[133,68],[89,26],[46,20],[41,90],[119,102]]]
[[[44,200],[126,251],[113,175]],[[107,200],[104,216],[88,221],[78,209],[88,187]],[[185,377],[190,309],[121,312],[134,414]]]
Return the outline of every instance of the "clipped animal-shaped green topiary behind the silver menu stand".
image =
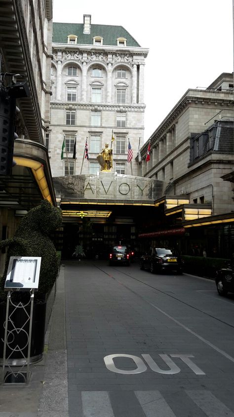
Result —
[[[59,261],[49,234],[61,225],[62,211],[42,200],[39,206],[25,214],[13,238],[0,243],[0,249],[8,247],[0,285],[1,299],[5,299],[6,295],[4,283],[11,256],[41,257],[37,297],[51,290],[58,274]]]

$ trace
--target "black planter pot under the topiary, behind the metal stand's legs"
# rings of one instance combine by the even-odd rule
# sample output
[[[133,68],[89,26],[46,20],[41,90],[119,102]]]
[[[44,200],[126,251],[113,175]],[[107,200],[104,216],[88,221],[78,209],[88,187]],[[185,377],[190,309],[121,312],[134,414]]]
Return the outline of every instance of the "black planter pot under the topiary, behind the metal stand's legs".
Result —
[[[26,312],[25,312],[26,310]],[[7,363],[11,366],[26,365],[28,359],[28,334],[30,306],[9,306],[8,336],[6,343]],[[0,303],[0,363],[2,364],[5,335],[6,303]],[[32,319],[30,364],[41,361],[44,350],[46,301],[35,300]],[[25,323],[27,320],[27,323]],[[25,323],[25,324],[24,324]]]

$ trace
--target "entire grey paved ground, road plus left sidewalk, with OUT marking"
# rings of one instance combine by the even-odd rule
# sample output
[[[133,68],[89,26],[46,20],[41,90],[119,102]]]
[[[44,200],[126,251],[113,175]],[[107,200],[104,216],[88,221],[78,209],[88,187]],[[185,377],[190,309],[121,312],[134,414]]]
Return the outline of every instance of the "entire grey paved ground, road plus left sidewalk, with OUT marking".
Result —
[[[0,387],[0,417],[234,417],[233,298],[94,263],[61,265],[43,360]]]

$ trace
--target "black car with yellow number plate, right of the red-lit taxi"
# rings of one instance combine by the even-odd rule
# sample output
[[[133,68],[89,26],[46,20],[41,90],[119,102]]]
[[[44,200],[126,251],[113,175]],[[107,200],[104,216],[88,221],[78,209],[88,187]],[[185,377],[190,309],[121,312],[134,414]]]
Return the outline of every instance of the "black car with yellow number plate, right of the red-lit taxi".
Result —
[[[141,256],[140,268],[150,269],[151,273],[165,271],[183,273],[183,262],[174,249],[151,248],[148,253]]]

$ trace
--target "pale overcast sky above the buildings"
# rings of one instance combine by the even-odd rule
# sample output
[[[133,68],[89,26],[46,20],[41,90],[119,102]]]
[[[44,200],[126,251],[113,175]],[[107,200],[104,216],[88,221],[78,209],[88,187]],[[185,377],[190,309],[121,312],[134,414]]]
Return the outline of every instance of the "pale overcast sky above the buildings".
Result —
[[[189,88],[233,72],[232,0],[53,0],[53,21],[123,26],[143,48],[146,142]]]

